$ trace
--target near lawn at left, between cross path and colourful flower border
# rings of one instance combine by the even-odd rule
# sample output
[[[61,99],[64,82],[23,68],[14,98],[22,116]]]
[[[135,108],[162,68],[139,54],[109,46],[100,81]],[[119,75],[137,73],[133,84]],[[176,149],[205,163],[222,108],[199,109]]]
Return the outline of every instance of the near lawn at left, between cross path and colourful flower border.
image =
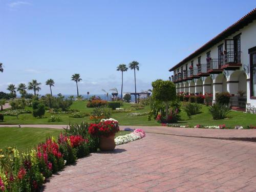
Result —
[[[33,127],[1,127],[0,128],[0,148],[13,147],[14,145],[20,151],[27,151],[40,142],[46,140],[47,137],[55,136],[58,138],[61,129],[33,128]],[[126,135],[131,132],[120,131],[115,137]]]

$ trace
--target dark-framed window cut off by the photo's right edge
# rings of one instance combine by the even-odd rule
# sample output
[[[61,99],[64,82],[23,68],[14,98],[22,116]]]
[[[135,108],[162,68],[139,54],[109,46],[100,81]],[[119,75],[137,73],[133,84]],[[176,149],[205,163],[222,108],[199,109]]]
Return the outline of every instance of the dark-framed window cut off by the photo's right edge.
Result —
[[[250,54],[250,96],[256,97],[256,47],[249,49]]]

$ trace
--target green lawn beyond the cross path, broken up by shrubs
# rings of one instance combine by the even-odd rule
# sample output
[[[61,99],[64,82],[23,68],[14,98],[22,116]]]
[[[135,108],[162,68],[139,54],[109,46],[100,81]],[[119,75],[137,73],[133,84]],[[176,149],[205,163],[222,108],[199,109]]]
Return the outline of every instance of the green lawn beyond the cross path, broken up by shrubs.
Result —
[[[86,107],[87,101],[74,101],[71,105],[71,109],[77,109],[79,111],[90,113],[93,108]],[[130,103],[124,103],[121,108],[124,109],[132,109]],[[208,112],[207,106],[203,105],[202,113],[193,115],[191,119],[189,119],[186,113],[181,112],[181,121],[178,123],[181,125],[189,125],[195,126],[197,124],[202,125],[220,125],[226,124],[227,127],[234,127],[236,125],[247,126],[247,125],[256,125],[255,115],[247,114],[243,112],[232,111],[229,113],[231,118],[222,119],[222,120],[213,120],[211,114]],[[32,110],[28,106],[26,109]],[[136,112],[147,112],[150,111],[150,106],[145,106],[142,110],[137,110]],[[21,114],[19,115],[19,119],[13,116],[5,116],[3,122],[0,124],[69,124],[71,123],[81,123],[81,121],[93,122],[89,120],[89,117],[84,118],[70,118],[69,115],[55,115],[60,116],[62,119],[61,122],[48,122],[48,118],[51,116],[50,113],[46,113],[45,117],[47,118],[34,118],[32,114]],[[113,113],[111,115],[112,118],[117,119],[120,125],[144,125],[144,126],[159,126],[156,120],[147,121],[147,115],[144,116],[129,116],[128,113]]]

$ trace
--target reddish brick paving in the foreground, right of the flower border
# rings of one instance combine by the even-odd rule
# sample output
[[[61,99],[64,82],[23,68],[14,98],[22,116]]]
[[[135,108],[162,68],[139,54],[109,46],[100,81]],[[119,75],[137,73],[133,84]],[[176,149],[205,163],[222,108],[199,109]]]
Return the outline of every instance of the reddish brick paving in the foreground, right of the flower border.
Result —
[[[148,133],[79,159],[45,191],[256,191],[256,143]]]

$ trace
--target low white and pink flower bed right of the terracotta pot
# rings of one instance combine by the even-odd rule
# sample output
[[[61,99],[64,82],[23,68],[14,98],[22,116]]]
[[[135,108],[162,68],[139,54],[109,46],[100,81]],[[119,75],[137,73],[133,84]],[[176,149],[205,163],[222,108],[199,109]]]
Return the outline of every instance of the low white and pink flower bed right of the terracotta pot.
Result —
[[[128,143],[128,142],[131,142],[131,141],[135,141],[137,139],[141,139],[145,136],[146,135],[145,135],[145,132],[143,130],[136,129],[130,134],[116,137],[115,138],[115,143],[116,143],[116,145],[121,145],[123,143]]]

